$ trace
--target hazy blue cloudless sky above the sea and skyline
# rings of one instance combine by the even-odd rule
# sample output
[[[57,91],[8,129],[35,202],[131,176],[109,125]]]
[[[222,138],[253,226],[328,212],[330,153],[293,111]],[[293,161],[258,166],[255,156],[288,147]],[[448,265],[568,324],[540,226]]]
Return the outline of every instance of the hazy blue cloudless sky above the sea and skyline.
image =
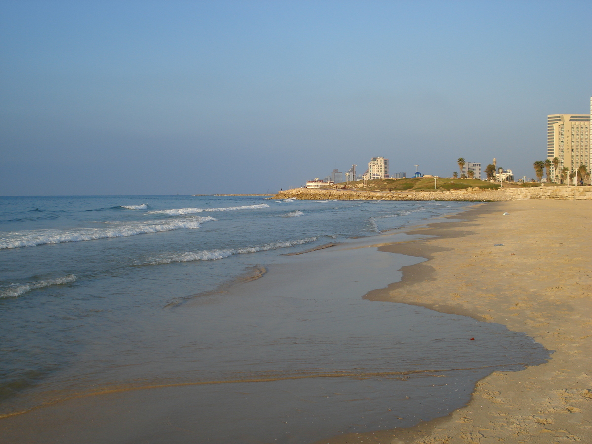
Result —
[[[265,193],[371,157],[535,176],[592,2],[0,0],[0,195]]]

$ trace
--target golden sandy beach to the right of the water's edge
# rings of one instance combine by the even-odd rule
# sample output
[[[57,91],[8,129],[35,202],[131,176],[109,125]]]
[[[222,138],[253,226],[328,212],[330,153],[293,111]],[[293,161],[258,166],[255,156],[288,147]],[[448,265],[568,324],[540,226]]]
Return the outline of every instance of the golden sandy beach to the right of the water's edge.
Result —
[[[440,237],[382,247],[430,260],[366,298],[505,324],[556,350],[551,361],[482,379],[447,417],[319,443],[592,442],[592,202],[496,202],[462,218],[414,231]]]

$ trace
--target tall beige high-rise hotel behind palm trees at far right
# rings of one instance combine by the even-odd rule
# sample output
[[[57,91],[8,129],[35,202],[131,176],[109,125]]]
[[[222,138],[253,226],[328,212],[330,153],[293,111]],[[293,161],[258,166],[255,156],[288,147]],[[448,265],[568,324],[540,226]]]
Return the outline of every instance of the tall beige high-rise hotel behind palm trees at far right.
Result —
[[[590,98],[592,113],[592,98]],[[569,173],[584,165],[590,171],[590,114],[551,114],[547,116],[547,159],[559,159],[557,175],[565,167]],[[551,167],[555,181],[555,169]]]

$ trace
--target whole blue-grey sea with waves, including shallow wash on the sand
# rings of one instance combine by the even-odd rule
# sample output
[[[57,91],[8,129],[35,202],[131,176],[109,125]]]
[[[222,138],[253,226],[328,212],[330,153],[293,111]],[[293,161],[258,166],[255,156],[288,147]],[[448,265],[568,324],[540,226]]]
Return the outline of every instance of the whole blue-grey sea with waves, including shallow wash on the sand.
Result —
[[[548,350],[363,295],[425,260],[373,244],[469,205],[0,197],[0,437],[72,403],[62,442],[312,443],[448,414]]]

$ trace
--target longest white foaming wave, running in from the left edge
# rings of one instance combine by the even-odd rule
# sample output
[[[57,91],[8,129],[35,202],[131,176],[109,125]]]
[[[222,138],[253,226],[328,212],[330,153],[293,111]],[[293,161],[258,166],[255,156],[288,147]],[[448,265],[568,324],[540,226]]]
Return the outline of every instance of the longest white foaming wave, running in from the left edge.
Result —
[[[142,222],[126,223],[119,227],[100,229],[80,229],[70,231],[25,231],[11,233],[0,240],[0,250],[7,248],[34,247],[37,245],[82,242],[84,240],[112,239],[115,237],[136,236],[137,234],[160,233],[173,230],[195,230],[203,222],[217,220],[214,217],[194,217],[191,220],[157,221],[147,224]]]

